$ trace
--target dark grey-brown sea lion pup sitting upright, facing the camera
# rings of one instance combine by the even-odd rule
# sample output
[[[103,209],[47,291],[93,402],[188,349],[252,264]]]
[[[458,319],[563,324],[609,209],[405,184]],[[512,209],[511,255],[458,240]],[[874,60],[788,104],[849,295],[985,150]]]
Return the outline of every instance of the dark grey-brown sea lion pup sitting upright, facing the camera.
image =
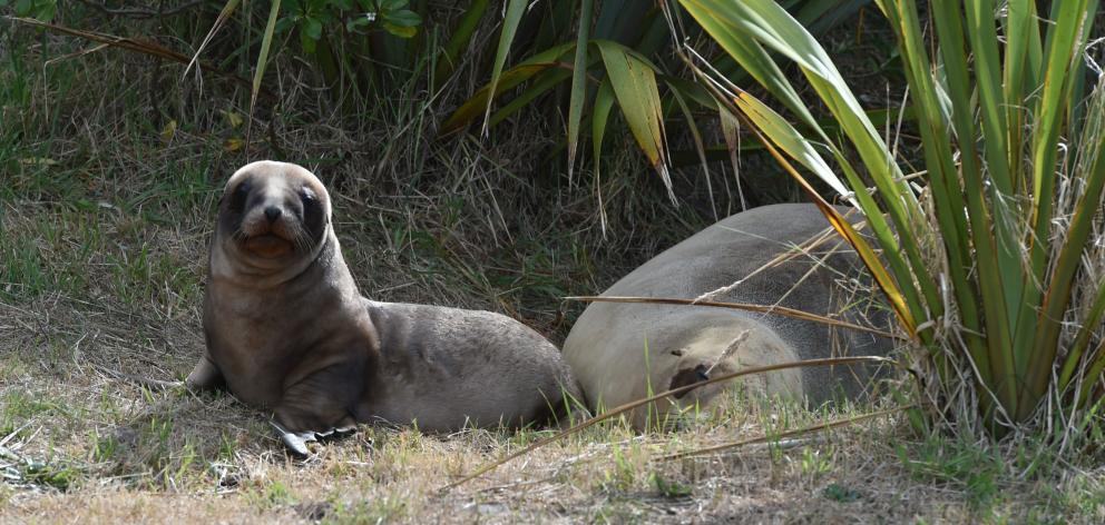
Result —
[[[556,347],[515,319],[362,297],[326,188],[293,164],[253,162],[226,182],[203,324],[186,384],[270,410],[299,455],[358,422],[518,427],[579,398]]]

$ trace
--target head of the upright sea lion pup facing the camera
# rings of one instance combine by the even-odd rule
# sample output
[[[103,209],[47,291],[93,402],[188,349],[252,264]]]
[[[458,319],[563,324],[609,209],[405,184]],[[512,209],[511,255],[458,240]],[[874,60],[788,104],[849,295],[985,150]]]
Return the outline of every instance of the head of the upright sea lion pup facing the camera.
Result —
[[[251,162],[223,189],[213,269],[297,274],[325,245],[330,214],[330,195],[311,171],[287,162]]]

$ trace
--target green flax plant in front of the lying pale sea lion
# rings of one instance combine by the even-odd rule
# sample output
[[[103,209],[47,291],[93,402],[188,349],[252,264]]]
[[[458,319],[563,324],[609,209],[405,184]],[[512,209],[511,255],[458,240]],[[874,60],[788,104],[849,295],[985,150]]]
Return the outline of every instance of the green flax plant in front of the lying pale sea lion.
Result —
[[[774,1],[678,3],[779,102],[769,107],[681,50],[864,259],[932,365],[943,409],[930,415],[1001,436],[1047,428],[1057,414],[1074,428],[1072,415],[1096,409],[1105,90],[1086,68],[1096,0],[1057,0],[1047,12],[1031,0],[932,0],[928,19],[915,0],[877,0],[921,138],[915,180],[825,50]],[[783,62],[798,67],[839,135],[819,126]],[[810,174],[863,211],[873,241],[813,191]]]

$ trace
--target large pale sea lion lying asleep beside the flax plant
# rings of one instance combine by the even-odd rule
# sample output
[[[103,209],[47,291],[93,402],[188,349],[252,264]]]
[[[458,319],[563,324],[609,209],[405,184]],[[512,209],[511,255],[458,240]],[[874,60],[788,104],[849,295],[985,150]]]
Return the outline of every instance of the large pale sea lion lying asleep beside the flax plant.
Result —
[[[841,209],[844,211],[844,209]],[[858,218],[858,214],[852,214]],[[796,255],[764,267],[829,228],[813,205],[776,205],[728,217],[645,262],[606,290],[604,296],[694,299],[732,286],[711,300],[779,305],[812,314],[835,314],[848,297],[834,281],[862,271],[854,252],[837,237],[811,250],[837,250],[823,262]],[[835,294],[835,295],[834,295]],[[869,299],[868,299],[869,300]],[[859,301],[866,303],[866,301]],[[884,309],[849,305],[843,320],[886,328]],[[847,355],[886,355],[891,340],[844,328],[773,314],[704,306],[593,303],[564,344],[593,409],[616,407],[651,393],[695,383],[743,368]],[[843,350],[843,351],[837,351]],[[658,402],[629,417],[637,428],[673,423],[672,416],[707,405],[720,392],[741,384],[756,395],[805,397],[813,404],[838,393],[854,396],[868,376],[864,367],[786,369],[742,380],[714,384],[681,399]]]

